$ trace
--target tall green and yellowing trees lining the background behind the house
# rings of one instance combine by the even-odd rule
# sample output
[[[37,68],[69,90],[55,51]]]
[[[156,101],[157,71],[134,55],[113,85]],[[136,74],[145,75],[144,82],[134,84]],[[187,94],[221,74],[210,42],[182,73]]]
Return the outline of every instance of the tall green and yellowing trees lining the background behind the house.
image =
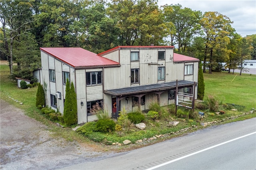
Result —
[[[227,16],[180,4],[158,7],[157,0],[1,0],[0,21],[1,59],[12,77],[29,80],[40,68],[39,47],[101,53],[119,45],[171,45],[204,61],[209,73],[220,62],[236,68],[256,59],[256,34],[242,37]]]

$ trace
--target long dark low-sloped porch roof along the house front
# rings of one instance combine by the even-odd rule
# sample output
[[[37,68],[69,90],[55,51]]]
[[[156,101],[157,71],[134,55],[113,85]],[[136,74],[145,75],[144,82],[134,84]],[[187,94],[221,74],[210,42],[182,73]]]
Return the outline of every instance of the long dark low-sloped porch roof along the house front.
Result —
[[[178,81],[178,88],[192,86],[194,82],[180,80]],[[148,84],[142,86],[132,86],[126,88],[117,88],[112,90],[104,90],[105,94],[109,94],[112,96],[122,96],[122,95],[131,95],[131,94],[139,94],[139,93],[146,93],[146,92],[155,92],[160,90],[168,90],[176,88],[176,81],[174,82],[164,82],[164,83],[157,83],[157,84]]]

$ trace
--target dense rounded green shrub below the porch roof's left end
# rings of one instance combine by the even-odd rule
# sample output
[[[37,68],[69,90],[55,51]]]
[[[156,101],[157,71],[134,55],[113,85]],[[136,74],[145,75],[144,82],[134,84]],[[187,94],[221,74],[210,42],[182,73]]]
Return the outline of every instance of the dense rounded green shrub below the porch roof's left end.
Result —
[[[112,132],[115,130],[116,123],[110,119],[100,119],[96,122],[96,129],[100,132]]]

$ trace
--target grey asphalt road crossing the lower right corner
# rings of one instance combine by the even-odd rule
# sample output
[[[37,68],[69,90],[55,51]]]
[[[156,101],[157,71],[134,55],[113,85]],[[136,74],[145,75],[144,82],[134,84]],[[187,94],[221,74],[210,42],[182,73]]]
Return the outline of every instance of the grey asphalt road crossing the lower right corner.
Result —
[[[186,155],[193,154],[195,152],[200,152],[200,150],[206,150],[215,145],[220,145],[222,143],[228,142],[230,140],[234,140],[236,138],[242,137],[244,135],[248,135],[250,133],[256,132],[256,118],[248,119],[245,121],[227,123],[224,125],[216,125],[212,127],[208,127],[206,129],[196,131],[190,133],[189,135],[185,135],[183,137],[174,138],[168,141],[164,141],[162,143],[157,143],[155,145],[150,145],[148,147],[143,147],[140,149],[132,150],[130,152],[125,152],[122,155],[114,156],[112,158],[106,158],[103,160],[91,162],[81,162],[80,164],[76,164],[73,166],[68,166],[66,168],[62,168],[62,170],[144,170],[150,169],[152,167],[158,166],[160,164],[164,164],[166,162],[175,160],[177,158],[182,158]],[[245,140],[245,141],[242,141]],[[236,169],[244,169],[246,164],[246,160],[243,162],[243,156],[247,154],[252,157],[247,161],[250,162],[254,166],[250,166],[249,168],[256,169],[256,144],[255,144],[255,135],[250,135],[248,138],[240,139],[240,141],[244,144],[248,143],[250,147],[247,149],[248,145],[237,144],[236,142],[231,143],[231,146],[222,145],[222,147],[216,147],[218,150],[208,150],[208,152],[204,152],[205,155],[203,157],[209,157],[207,161],[212,162],[212,164],[220,164],[218,160],[214,158],[226,157],[226,161],[224,163],[230,163],[230,160],[233,162],[238,161],[238,167]],[[228,150],[224,150],[228,149]],[[242,150],[241,152],[234,154],[232,150],[235,149]],[[237,150],[236,149],[236,150]],[[222,152],[220,152],[220,150]],[[215,152],[214,157],[212,157],[212,152]],[[246,159],[246,157],[245,157]],[[224,159],[223,159],[224,160]],[[187,163],[186,161],[182,164],[184,167],[160,167],[159,169],[198,169],[201,165],[207,164],[207,161],[202,158],[195,158],[192,162],[195,164],[194,167],[190,166],[192,163]],[[230,163],[232,164],[232,163]],[[216,167],[205,166],[203,169],[216,169]],[[223,167],[221,167],[223,168]]]

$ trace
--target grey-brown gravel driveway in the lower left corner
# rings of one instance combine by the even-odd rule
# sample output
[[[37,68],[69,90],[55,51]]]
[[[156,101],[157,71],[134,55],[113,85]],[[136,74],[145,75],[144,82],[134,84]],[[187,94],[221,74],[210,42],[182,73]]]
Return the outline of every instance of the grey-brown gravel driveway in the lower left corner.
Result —
[[[0,169],[58,169],[102,159],[111,153],[96,152],[76,141],[52,138],[47,126],[16,107],[0,103]]]

